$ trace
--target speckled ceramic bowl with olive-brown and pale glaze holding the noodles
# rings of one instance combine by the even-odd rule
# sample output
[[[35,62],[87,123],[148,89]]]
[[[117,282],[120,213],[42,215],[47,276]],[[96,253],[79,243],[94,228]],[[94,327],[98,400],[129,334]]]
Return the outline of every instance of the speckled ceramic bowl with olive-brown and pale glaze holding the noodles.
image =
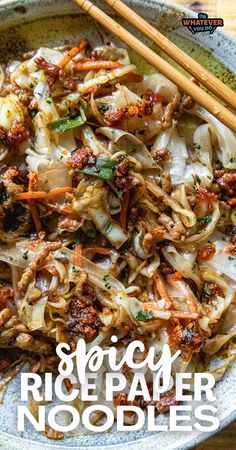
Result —
[[[225,83],[236,90],[236,42],[222,31],[213,35],[207,33],[192,35],[183,29],[181,19],[194,15],[162,0],[127,0],[132,8],[156,25],[162,32],[182,47],[187,53],[214,72]],[[101,8],[108,10],[104,3]],[[108,10],[111,12],[111,10]],[[74,42],[80,37],[89,37],[94,45],[114,38],[88,17],[69,0],[22,0],[0,1],[0,60],[17,56],[22,50],[31,50],[41,45],[60,45],[65,41]],[[131,28],[132,31],[132,28]],[[139,34],[134,31],[136,35]],[[151,71],[152,68],[137,59],[132,59],[139,69]],[[236,367],[232,366],[223,381],[215,388],[220,426],[224,427],[235,417],[236,409]],[[89,434],[68,438],[64,441],[49,441],[32,427],[24,433],[17,431],[16,407],[20,393],[19,380],[10,384],[4,405],[0,407],[0,448],[3,449],[81,449],[101,450],[186,450],[209,437],[209,434],[193,431],[150,433],[115,432]],[[167,420],[162,416],[163,423]],[[234,444],[232,442],[232,449]]]

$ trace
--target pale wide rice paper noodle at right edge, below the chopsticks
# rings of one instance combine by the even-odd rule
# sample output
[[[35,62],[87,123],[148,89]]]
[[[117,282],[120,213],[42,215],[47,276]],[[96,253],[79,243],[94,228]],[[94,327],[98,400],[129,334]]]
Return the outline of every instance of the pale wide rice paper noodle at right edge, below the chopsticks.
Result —
[[[226,169],[236,169],[236,137],[234,133],[201,106],[195,106],[192,111],[209,123],[211,133],[213,137],[217,138],[219,144],[218,157],[223,166]]]

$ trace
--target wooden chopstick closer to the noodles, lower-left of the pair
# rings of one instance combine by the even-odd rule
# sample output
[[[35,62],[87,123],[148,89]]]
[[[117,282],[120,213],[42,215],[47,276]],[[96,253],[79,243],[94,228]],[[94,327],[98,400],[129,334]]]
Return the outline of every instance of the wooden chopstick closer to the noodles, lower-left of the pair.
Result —
[[[93,5],[89,0],[75,0],[75,2],[95,20],[100,22],[119,39],[133,48],[146,61],[169,78],[182,91],[190,95],[199,105],[216,116],[221,122],[236,132],[236,116],[217,100],[204,92],[199,86],[190,81],[185,75],[172,67],[153,50],[139,41],[129,31],[119,25],[115,20]]]

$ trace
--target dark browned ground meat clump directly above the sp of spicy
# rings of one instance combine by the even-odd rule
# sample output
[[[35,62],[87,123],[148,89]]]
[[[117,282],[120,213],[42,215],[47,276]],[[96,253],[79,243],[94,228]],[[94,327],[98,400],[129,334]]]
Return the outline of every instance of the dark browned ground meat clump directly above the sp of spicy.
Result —
[[[83,296],[71,300],[69,313],[72,319],[69,320],[68,327],[72,333],[83,335],[86,340],[98,335],[102,328],[98,310],[92,304],[84,303]]]

